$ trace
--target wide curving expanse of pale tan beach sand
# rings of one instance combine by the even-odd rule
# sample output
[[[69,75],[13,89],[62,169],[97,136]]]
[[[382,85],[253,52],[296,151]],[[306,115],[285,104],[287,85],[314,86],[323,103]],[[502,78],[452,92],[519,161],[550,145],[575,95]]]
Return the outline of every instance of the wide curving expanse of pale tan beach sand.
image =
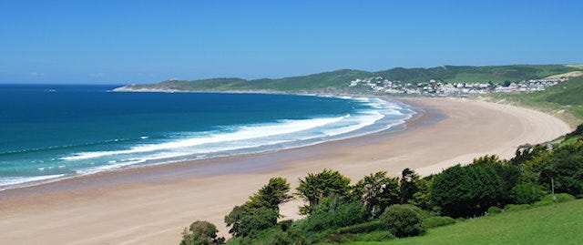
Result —
[[[379,170],[423,175],[570,131],[556,117],[521,108],[454,98],[406,98],[424,110],[407,129],[236,158],[183,162],[66,179],[0,192],[0,244],[178,244],[180,232],[222,219],[271,177],[298,178],[323,168],[353,179]],[[301,200],[281,207],[298,218]]]

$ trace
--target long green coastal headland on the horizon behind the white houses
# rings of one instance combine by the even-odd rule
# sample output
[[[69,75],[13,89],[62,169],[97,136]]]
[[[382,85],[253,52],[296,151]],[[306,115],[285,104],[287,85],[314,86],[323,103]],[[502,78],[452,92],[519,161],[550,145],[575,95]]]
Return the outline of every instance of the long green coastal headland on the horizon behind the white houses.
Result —
[[[436,66],[431,68],[404,68],[368,72],[342,69],[300,77],[262,78],[210,78],[200,80],[168,80],[149,85],[128,85],[115,91],[257,91],[257,92],[363,92],[363,84],[353,84],[358,79],[381,77],[393,84],[421,84],[429,81],[444,83],[504,84],[545,77],[578,77],[583,75],[577,65],[514,65],[514,66]]]

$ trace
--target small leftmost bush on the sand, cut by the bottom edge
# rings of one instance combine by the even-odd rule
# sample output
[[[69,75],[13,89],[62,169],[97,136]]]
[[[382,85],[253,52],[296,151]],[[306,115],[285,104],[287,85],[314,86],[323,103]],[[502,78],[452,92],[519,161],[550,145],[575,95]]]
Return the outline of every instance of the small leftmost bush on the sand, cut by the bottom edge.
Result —
[[[182,232],[180,245],[214,245],[223,244],[225,239],[217,237],[217,227],[208,221],[194,221],[189,229]]]

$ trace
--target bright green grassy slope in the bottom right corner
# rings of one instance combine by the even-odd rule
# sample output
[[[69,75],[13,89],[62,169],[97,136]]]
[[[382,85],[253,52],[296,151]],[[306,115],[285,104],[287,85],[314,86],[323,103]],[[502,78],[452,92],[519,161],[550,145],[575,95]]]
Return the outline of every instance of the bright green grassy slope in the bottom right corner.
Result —
[[[419,237],[346,244],[583,244],[583,199],[470,219]]]

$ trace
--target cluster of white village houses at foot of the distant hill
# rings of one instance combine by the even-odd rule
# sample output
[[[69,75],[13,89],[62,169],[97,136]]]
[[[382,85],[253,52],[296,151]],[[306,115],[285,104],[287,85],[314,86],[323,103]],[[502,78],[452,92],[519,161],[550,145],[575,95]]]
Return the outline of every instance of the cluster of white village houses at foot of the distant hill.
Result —
[[[547,87],[555,86],[567,81],[570,77],[541,78],[522,80],[519,82],[505,82],[504,84],[444,82],[429,80],[428,82],[404,83],[399,80],[391,81],[383,77],[369,77],[356,79],[348,87],[369,87],[377,93],[412,94],[424,96],[469,96],[489,93],[533,92],[542,91]]]

